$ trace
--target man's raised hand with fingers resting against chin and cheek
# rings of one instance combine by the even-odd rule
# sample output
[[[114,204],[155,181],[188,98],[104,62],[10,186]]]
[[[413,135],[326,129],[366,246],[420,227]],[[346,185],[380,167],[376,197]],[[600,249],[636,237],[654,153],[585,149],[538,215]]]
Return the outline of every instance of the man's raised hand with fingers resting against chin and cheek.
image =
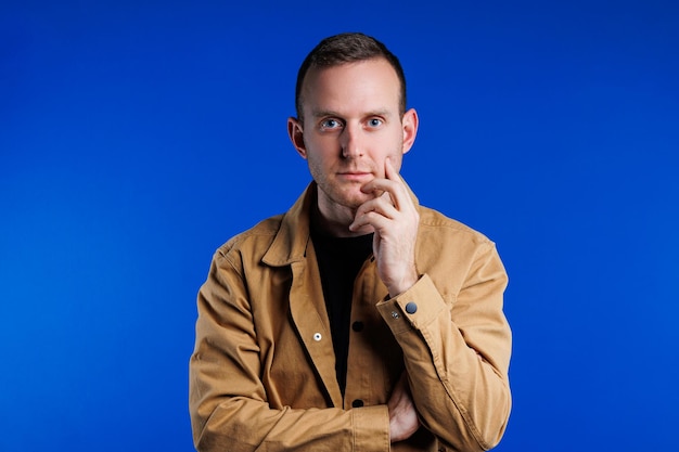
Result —
[[[361,188],[374,198],[357,210],[349,230],[371,225],[374,229],[373,254],[380,279],[392,297],[408,290],[418,282],[415,240],[420,216],[408,189],[387,158],[386,179],[373,179]]]

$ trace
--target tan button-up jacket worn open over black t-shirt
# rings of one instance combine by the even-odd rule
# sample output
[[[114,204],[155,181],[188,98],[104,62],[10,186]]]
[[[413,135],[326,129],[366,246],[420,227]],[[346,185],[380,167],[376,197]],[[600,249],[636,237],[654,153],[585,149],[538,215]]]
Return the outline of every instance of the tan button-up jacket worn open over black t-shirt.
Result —
[[[312,183],[283,216],[214,256],[197,298],[190,411],[200,451],[479,451],[509,417],[507,274],[482,234],[418,206],[421,277],[388,299],[372,257],[357,276],[344,399],[313,245]],[[417,199],[415,199],[417,202]],[[411,312],[411,313],[409,313]],[[389,444],[403,367],[423,428]]]

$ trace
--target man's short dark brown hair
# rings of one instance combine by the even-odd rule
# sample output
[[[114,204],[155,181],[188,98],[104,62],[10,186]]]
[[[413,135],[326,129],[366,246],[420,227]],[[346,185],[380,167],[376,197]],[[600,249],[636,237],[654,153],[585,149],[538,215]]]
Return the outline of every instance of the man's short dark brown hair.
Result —
[[[304,78],[309,69],[338,66],[345,63],[380,57],[385,59],[392,67],[394,67],[394,70],[396,70],[401,86],[399,100],[400,114],[406,113],[406,75],[396,55],[373,37],[363,35],[362,33],[343,33],[325,38],[319,42],[318,46],[309,52],[302,63],[302,66],[299,66],[297,86],[295,88],[295,108],[297,109],[297,117],[302,119],[302,86],[304,85]]]

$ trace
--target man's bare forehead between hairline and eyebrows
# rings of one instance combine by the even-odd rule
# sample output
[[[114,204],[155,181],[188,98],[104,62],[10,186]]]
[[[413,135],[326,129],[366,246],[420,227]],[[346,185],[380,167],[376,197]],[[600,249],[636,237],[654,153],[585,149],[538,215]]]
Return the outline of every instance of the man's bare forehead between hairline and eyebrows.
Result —
[[[302,88],[305,115],[319,111],[398,111],[400,80],[384,59],[311,68]]]

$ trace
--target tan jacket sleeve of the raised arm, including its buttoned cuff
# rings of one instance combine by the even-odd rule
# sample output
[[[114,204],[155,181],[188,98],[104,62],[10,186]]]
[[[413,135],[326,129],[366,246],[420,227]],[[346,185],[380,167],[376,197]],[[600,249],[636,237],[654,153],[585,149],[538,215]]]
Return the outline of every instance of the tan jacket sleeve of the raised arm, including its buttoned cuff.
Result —
[[[377,309],[403,351],[422,424],[454,450],[479,451],[500,441],[511,409],[508,277],[491,242],[464,272],[459,289],[437,287],[425,273]]]

